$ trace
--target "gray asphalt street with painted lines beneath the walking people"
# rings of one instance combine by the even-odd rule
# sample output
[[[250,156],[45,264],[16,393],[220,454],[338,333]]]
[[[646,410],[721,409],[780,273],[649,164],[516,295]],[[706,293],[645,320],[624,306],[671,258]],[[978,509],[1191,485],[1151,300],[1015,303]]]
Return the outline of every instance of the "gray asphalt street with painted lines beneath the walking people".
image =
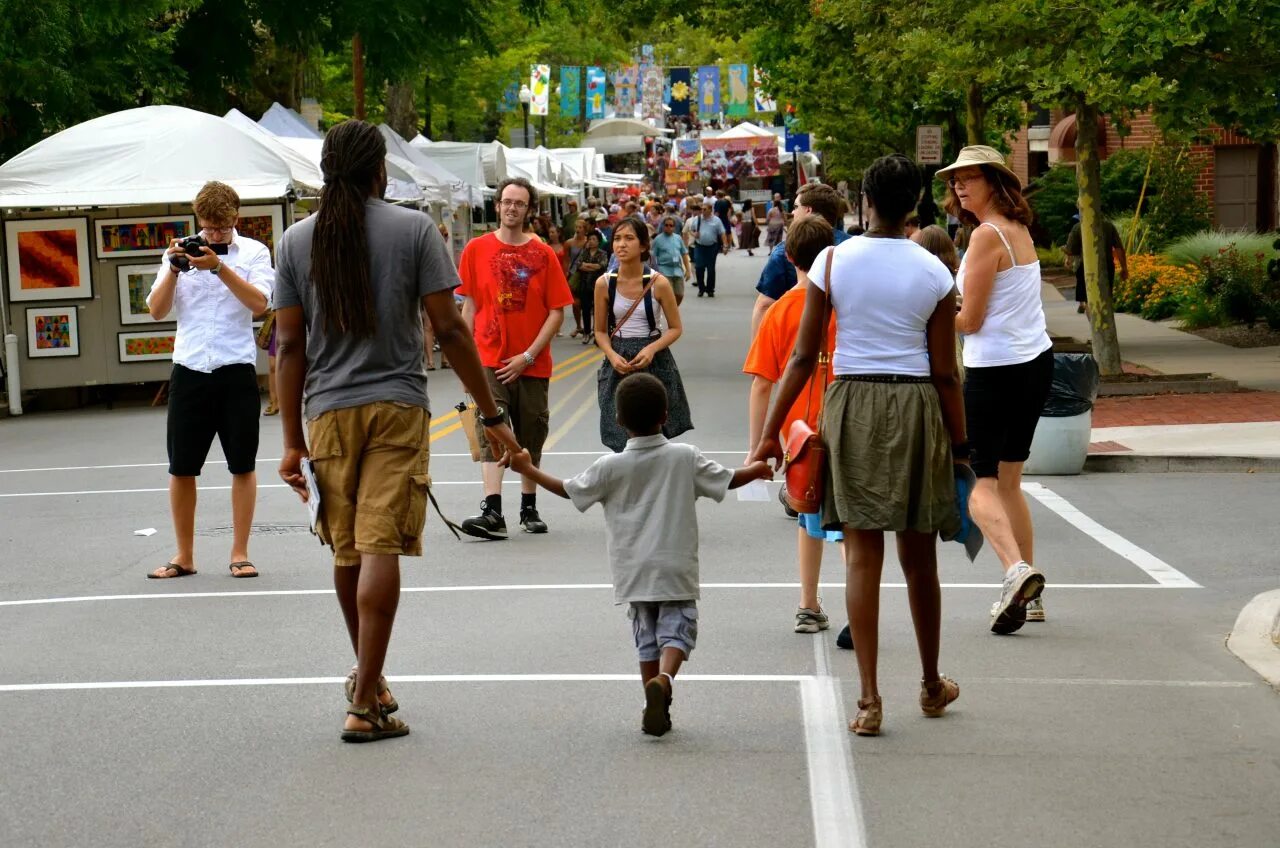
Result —
[[[685,301],[673,348],[696,425],[682,441],[726,464],[744,459],[763,261],[722,260],[718,296]],[[563,338],[556,357],[544,464],[567,477],[603,450],[598,356]],[[461,397],[451,371],[431,374],[431,477],[453,520],[481,497],[449,416]],[[262,420],[255,580],[227,570],[216,461],[200,574],[143,579],[173,544],[164,433],[146,406],[0,420],[4,848],[1280,842],[1280,696],[1224,646],[1277,587],[1280,475],[1029,479],[1048,621],[988,633],[995,556],[943,544],[942,667],[961,697],[940,720],[918,710],[887,564],[874,739],[845,730],[844,569],[828,550],[836,626],[792,633],[795,525],[774,500],[699,503],[699,644],[660,739],[640,733],[599,511],[543,493],[550,533],[495,543],[457,542],[433,514],[388,658],[412,734],[344,746],[349,646],[326,552],[275,475],[279,420]]]

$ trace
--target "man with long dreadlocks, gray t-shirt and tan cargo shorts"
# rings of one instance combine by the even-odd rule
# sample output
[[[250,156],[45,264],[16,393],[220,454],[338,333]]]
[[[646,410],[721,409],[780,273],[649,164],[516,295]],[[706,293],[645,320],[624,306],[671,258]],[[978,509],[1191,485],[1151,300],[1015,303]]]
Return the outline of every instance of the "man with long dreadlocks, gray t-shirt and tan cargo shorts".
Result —
[[[408,733],[390,715],[399,705],[381,671],[399,602],[399,557],[422,555],[430,487],[424,313],[475,397],[490,443],[520,450],[453,305],[458,275],[435,223],[381,200],[385,158],[371,124],[347,120],[329,131],[320,211],[280,240],[275,289],[280,478],[306,500],[302,460],[310,456],[320,494],[316,533],[333,548],[334,587],[356,651],[344,742]]]

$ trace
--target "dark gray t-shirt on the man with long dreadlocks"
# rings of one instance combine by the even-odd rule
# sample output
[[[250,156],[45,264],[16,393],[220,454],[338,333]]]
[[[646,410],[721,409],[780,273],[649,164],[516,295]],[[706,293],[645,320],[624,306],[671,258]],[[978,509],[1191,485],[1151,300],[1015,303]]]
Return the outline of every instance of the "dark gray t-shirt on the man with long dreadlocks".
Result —
[[[275,309],[302,306],[307,325],[307,379],[302,389],[308,419],[376,401],[399,401],[430,411],[422,361],[422,297],[457,288],[458,273],[430,215],[372,197],[365,204],[369,270],[378,311],[371,338],[330,336],[311,281],[311,238],[316,216],[301,220],[280,240]]]

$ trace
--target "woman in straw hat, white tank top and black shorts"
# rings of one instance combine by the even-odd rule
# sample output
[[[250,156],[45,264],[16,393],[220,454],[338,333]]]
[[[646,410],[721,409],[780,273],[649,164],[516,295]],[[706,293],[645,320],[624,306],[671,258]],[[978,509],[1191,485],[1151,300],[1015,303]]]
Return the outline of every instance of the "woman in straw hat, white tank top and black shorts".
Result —
[[[991,608],[992,633],[1043,621],[1044,575],[1033,565],[1032,516],[1023,496],[1023,464],[1048,397],[1053,343],[1044,325],[1041,269],[1027,225],[1032,210],[1004,156],[986,145],[965,147],[938,172],[946,210],[974,228],[956,284],[963,306],[965,419],[978,485],[969,510],[1005,569]]]

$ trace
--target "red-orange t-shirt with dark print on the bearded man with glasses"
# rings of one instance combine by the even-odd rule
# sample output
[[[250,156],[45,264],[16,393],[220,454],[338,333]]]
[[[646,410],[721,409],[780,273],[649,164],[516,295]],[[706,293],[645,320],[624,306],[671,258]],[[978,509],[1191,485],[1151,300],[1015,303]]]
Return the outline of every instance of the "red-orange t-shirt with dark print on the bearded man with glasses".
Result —
[[[458,275],[458,295],[475,302],[476,348],[485,368],[502,368],[503,360],[527,351],[552,310],[573,302],[559,259],[536,238],[524,245],[504,245],[497,233],[472,238]],[[524,375],[552,375],[550,345]]]

